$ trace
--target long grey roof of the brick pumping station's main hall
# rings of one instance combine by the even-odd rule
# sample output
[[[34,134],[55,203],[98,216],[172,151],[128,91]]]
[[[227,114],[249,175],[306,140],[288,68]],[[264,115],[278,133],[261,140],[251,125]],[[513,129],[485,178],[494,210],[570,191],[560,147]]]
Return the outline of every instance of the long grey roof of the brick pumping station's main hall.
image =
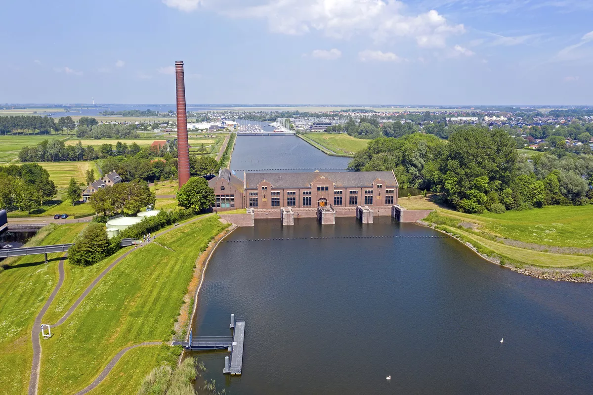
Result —
[[[325,177],[335,187],[368,187],[375,180],[381,179],[388,187],[398,186],[396,177],[391,171],[344,171],[326,173],[246,173],[247,189],[254,189],[262,181],[272,184],[273,188],[307,188],[315,180]]]

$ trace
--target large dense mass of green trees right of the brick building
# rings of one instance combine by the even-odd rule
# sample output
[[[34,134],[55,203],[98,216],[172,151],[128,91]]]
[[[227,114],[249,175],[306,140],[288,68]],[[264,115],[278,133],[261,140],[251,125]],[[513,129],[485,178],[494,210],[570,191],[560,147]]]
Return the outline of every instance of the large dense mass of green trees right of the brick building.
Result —
[[[593,157],[562,151],[517,154],[502,129],[455,128],[448,142],[414,133],[369,142],[349,164],[351,170],[393,170],[400,187],[442,193],[463,212],[503,212],[554,204],[582,205],[593,199]]]

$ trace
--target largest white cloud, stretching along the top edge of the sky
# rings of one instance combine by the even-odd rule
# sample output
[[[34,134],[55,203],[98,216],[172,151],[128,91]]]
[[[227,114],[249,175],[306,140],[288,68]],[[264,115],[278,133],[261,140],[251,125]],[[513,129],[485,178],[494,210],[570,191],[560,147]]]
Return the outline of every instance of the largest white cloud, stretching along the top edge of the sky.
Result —
[[[336,39],[364,35],[376,42],[402,37],[420,47],[445,47],[447,37],[465,31],[463,24],[449,23],[434,9],[404,14],[404,4],[397,0],[262,0],[259,5],[244,0],[162,1],[181,11],[203,8],[232,18],[264,19],[270,30],[282,34],[321,31]]]

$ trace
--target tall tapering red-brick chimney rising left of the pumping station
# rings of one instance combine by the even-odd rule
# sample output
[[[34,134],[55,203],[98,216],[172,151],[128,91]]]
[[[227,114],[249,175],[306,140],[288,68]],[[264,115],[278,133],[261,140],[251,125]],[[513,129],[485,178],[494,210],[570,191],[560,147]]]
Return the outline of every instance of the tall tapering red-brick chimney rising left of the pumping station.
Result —
[[[185,78],[183,62],[175,62],[177,81],[177,173],[179,187],[189,180],[189,142],[187,142],[187,109],[185,103]]]

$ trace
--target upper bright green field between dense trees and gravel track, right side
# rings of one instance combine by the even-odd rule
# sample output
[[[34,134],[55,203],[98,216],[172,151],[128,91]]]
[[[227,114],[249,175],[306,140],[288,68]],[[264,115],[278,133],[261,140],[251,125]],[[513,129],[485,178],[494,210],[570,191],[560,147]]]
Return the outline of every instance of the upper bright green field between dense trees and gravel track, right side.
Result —
[[[593,247],[593,206],[546,206],[503,214],[464,214],[443,208],[429,198],[400,198],[407,209],[434,209],[437,214],[471,222],[495,237],[557,247]]]

